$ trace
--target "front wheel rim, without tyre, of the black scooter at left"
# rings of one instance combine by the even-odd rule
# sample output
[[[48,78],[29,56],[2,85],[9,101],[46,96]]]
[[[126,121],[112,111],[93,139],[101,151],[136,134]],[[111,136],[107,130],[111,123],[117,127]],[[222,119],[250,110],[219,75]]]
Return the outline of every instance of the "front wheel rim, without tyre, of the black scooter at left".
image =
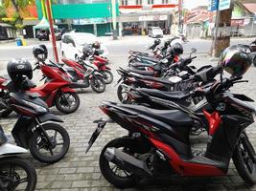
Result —
[[[40,134],[36,139],[36,148],[40,155],[47,157],[62,155],[64,150],[62,134],[55,129],[45,130],[45,132],[49,139],[45,137],[45,134]]]

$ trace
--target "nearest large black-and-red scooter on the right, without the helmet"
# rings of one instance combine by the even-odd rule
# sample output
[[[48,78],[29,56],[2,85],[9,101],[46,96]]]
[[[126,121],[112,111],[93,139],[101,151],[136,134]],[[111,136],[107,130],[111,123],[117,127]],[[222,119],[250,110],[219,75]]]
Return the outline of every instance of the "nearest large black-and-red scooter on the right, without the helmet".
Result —
[[[104,102],[101,110],[110,120],[97,120],[98,126],[88,141],[89,151],[107,122],[128,130],[128,136],[109,141],[100,155],[100,169],[107,181],[119,188],[138,181],[167,176],[213,177],[227,174],[230,159],[247,184],[256,181],[255,150],[245,128],[255,121],[256,111],[244,103],[247,96],[230,91],[242,77],[217,81],[192,95],[205,96],[211,108],[203,115],[209,123],[205,152],[193,150],[190,132],[194,114],[182,110],[155,110],[144,106]]]

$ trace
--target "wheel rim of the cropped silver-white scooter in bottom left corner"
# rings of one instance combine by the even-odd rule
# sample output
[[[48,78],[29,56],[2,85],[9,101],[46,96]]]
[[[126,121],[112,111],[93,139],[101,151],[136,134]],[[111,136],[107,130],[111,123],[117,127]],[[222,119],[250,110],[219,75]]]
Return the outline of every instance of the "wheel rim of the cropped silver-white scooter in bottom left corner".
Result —
[[[0,167],[0,181],[8,191],[24,190],[29,186],[28,173],[12,163]]]

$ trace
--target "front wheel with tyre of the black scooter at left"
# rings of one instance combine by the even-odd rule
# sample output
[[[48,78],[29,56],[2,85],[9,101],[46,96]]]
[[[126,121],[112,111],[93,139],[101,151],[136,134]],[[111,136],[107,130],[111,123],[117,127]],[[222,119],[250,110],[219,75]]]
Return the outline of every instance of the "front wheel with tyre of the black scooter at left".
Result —
[[[29,148],[30,148],[31,154],[35,159],[37,159],[40,162],[44,162],[44,163],[58,162],[60,159],[63,159],[66,153],[68,152],[69,145],[70,145],[69,135],[67,131],[57,123],[45,123],[45,124],[42,124],[42,128],[44,129],[44,132],[47,134],[47,136],[51,138],[51,141],[54,145],[50,146],[49,141],[47,138],[45,138],[44,133],[42,133],[42,131],[37,129],[34,132],[32,138],[30,139]],[[55,135],[54,136],[49,135],[49,133],[47,133],[49,131],[54,131]],[[61,136],[60,138],[61,143],[59,143],[56,139],[57,133]],[[63,146],[61,149],[58,149],[58,151],[60,150],[60,152],[56,156],[54,156],[53,149],[55,149],[60,144],[62,144]],[[50,151],[50,155],[42,154],[40,152],[42,148],[46,151]]]

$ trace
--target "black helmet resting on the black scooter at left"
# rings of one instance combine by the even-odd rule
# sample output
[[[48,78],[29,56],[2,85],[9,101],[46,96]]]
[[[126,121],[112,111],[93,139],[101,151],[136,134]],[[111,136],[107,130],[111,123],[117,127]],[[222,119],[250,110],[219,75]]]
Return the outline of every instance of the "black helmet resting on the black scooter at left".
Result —
[[[24,76],[27,76],[29,79],[33,77],[31,63],[23,58],[12,59],[7,64],[7,72],[15,83],[21,83]]]

